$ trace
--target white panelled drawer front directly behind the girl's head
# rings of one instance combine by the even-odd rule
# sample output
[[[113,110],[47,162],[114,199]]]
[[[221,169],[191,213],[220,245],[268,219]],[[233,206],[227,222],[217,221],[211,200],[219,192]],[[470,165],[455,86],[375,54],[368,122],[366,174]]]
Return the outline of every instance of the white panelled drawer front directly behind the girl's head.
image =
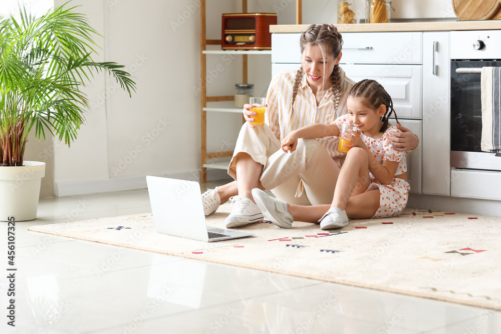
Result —
[[[398,118],[421,119],[422,65],[341,64],[346,76],[356,82],[373,79],[390,94]]]

